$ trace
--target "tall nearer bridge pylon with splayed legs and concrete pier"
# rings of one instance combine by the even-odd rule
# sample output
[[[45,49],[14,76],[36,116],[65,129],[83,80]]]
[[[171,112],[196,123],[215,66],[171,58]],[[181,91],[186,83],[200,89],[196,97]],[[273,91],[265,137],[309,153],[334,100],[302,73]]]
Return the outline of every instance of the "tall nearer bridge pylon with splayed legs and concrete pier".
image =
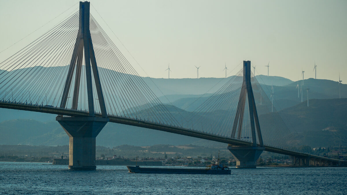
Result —
[[[107,117],[104,97],[100,84],[98,67],[89,29],[90,2],[79,2],[79,29],[72,53],[68,75],[60,103],[60,108],[65,108],[71,84],[74,80],[72,109],[77,109],[78,95],[81,82],[81,70],[83,57],[85,60],[86,85],[88,96],[88,117],[64,117],[58,115],[56,120],[64,128],[69,136],[69,169],[95,170],[95,139],[101,129],[109,121]],[[76,69],[76,70],[75,70]],[[94,98],[92,85],[92,71],[96,93],[100,104],[101,116],[95,117]],[[75,79],[73,75],[75,73]]]

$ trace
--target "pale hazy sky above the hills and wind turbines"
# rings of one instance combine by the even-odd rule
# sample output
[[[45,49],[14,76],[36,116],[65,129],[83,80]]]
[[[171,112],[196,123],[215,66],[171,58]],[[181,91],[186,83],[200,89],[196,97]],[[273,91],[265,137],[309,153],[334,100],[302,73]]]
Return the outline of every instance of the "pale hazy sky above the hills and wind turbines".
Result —
[[[150,77],[167,78],[168,63],[170,78],[196,78],[195,65],[201,66],[199,77],[224,77],[225,62],[231,71],[251,60],[256,75],[266,75],[264,66],[270,61],[270,76],[297,80],[301,69],[305,78],[314,77],[316,61],[317,78],[338,80],[340,73],[347,82],[346,0],[91,0],[91,4]],[[0,51],[57,17],[1,52],[0,60],[77,10],[78,1],[71,0],[0,0]],[[91,14],[137,72],[147,76],[93,7]]]

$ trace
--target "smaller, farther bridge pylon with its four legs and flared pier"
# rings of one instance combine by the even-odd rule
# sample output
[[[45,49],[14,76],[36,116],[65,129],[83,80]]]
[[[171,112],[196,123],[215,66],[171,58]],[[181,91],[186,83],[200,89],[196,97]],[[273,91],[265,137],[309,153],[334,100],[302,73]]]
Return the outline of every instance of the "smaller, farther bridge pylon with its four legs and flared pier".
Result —
[[[252,143],[251,145],[245,146],[236,146],[228,144],[228,150],[236,159],[236,168],[256,168],[256,160],[259,158],[263,150],[265,150],[252,90],[251,61],[243,61],[243,83],[241,87],[239,101],[237,104],[234,124],[232,126],[232,138],[241,138],[244,111],[246,109],[246,98],[248,100],[249,119],[251,123],[252,132]],[[257,137],[259,145],[257,145]]]

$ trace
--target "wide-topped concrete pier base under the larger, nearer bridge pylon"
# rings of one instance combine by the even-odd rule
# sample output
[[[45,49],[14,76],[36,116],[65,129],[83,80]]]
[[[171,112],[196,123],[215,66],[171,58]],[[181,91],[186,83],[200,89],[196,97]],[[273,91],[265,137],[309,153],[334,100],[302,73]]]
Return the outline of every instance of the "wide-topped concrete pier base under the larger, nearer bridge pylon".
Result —
[[[69,169],[95,170],[95,138],[109,121],[97,117],[56,117],[69,136]]]

